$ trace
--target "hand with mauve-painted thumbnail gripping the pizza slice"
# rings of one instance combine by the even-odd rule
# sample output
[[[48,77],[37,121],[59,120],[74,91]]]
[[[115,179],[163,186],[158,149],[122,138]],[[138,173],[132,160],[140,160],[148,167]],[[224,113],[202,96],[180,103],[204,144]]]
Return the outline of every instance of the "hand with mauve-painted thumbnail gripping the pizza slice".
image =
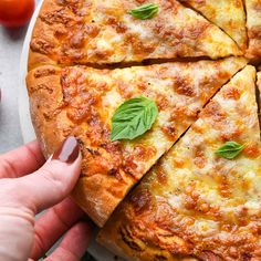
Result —
[[[67,230],[45,260],[81,259],[90,226],[80,221],[84,213],[67,197],[80,176],[81,160],[74,137],[65,139],[45,164],[38,142],[0,156],[0,260],[38,260]],[[35,221],[34,216],[50,207]]]

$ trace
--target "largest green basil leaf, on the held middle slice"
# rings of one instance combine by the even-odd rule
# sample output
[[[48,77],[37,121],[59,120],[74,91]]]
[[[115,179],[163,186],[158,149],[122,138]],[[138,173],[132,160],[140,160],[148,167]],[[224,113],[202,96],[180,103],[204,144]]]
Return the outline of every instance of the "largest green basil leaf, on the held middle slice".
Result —
[[[150,129],[158,108],[154,101],[147,97],[134,97],[124,102],[112,118],[111,139],[134,139]]]

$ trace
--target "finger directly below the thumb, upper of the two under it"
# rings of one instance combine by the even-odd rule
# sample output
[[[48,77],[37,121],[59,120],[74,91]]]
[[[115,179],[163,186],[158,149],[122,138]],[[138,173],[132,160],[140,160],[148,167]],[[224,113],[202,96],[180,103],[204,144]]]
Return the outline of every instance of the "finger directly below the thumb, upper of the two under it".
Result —
[[[84,212],[70,198],[51,208],[34,226],[31,258],[39,260],[83,216]]]

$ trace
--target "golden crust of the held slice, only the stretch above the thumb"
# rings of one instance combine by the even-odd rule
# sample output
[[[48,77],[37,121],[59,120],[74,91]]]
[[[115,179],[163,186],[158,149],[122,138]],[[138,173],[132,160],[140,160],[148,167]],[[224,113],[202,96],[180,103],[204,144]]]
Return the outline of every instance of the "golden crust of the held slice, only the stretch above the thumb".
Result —
[[[54,114],[63,100],[60,72],[56,66],[45,65],[30,71],[27,76],[31,118],[46,158],[65,138]]]

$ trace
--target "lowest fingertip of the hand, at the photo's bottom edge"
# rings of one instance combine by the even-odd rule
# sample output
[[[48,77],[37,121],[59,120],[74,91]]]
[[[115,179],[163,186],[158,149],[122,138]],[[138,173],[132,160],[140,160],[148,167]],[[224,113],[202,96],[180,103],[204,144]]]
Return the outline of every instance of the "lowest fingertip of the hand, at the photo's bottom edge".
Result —
[[[86,222],[76,223],[65,234],[58,249],[46,261],[79,261],[84,255],[90,242],[91,227]]]

